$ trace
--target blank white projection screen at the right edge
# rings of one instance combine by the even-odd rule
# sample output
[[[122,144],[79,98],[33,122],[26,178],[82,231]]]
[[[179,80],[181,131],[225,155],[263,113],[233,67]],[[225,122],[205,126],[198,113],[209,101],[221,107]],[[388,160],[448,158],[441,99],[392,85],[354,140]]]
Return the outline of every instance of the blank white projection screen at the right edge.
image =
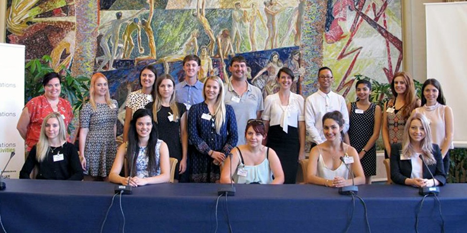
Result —
[[[454,147],[467,148],[467,2],[427,3],[425,10],[427,78],[441,83],[452,108]]]

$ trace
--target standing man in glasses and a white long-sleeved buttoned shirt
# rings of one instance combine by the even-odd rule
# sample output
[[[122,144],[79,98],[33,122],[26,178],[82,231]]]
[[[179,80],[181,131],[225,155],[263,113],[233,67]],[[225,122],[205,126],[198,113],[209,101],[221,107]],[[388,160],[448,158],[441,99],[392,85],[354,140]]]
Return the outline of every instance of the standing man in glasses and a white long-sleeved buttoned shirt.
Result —
[[[306,98],[305,101],[305,123],[306,132],[311,137],[311,148],[323,143],[326,138],[323,133],[323,116],[332,111],[339,111],[344,118],[343,133],[349,129],[349,113],[344,98],[331,91],[334,77],[329,67],[321,67],[318,71],[318,83],[320,89]]]

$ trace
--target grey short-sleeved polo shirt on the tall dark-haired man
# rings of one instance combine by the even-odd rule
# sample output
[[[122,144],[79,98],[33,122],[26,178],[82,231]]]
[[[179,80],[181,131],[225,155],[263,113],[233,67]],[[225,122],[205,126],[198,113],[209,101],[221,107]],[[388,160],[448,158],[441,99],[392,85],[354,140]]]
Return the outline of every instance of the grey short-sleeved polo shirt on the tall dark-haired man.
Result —
[[[246,82],[246,81],[245,81]],[[263,94],[261,90],[247,82],[247,91],[239,96],[232,83],[224,83],[225,104],[234,108],[235,118],[237,120],[238,143],[245,144],[245,128],[249,119],[256,119],[256,112],[263,111]]]

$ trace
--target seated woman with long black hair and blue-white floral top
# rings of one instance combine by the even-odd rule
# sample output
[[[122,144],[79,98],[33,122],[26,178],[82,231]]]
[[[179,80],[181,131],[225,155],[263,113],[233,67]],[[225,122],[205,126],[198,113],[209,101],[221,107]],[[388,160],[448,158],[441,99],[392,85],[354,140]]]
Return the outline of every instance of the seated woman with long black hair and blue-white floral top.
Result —
[[[126,160],[128,177],[120,172]],[[156,124],[147,109],[139,109],[131,119],[128,141],[120,145],[108,179],[133,187],[154,183],[167,183],[170,179],[169,150],[158,138]]]

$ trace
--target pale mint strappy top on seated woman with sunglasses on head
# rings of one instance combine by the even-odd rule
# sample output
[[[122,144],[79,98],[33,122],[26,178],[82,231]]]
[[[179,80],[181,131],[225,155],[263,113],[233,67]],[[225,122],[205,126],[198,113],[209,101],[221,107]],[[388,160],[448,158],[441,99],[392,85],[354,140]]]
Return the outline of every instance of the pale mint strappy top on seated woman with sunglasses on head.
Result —
[[[269,167],[268,160],[269,148],[266,149],[266,156],[263,162],[255,166],[245,165],[243,162],[242,152],[238,147],[236,147],[236,149],[238,150],[237,156],[240,159],[240,164],[235,169],[234,174],[232,174],[232,179],[235,183],[272,183],[272,171]],[[238,169],[242,168],[246,171],[246,176],[238,175]]]

